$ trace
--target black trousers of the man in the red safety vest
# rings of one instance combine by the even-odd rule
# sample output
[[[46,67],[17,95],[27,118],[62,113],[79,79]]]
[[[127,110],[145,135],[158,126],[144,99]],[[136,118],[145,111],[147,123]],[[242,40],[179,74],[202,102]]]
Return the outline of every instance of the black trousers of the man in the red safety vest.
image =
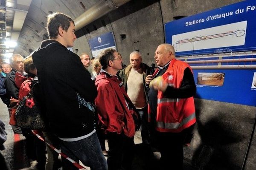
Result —
[[[186,131],[180,133],[157,132],[157,143],[161,153],[161,170],[183,170],[183,143]]]

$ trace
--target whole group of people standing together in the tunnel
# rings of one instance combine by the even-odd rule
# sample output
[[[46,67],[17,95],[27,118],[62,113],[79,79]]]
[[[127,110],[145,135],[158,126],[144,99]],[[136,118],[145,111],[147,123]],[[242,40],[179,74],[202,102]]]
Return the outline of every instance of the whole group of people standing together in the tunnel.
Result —
[[[15,54],[10,64],[0,64],[0,96],[10,124],[26,137],[28,156],[38,161],[38,169],[58,170],[60,165],[58,153],[47,146],[46,158],[44,142],[15,124],[17,105],[32,86],[46,124],[38,133],[74,161],[91,170],[131,170],[134,135],[141,129],[145,168],[182,170],[183,143],[196,122],[196,86],[192,69],[175,59],[173,46],[157,47],[156,70],[142,62],[138,51],[131,52],[127,66],[113,48],[90,59],[67,49],[76,40],[70,17],[54,13],[47,19],[49,40],[25,60]],[[152,148],[161,153],[157,164]],[[61,166],[78,169],[65,158]]]

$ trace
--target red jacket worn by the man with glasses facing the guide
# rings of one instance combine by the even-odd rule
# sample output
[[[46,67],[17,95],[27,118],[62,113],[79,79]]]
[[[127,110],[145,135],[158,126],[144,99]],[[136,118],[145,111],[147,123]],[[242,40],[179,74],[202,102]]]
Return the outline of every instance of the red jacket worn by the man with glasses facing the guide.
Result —
[[[99,121],[106,127],[105,132],[124,133],[128,137],[135,134],[133,111],[125,103],[129,99],[125,89],[117,77],[101,72],[95,81],[98,96],[95,99]],[[132,104],[131,101],[127,101]]]

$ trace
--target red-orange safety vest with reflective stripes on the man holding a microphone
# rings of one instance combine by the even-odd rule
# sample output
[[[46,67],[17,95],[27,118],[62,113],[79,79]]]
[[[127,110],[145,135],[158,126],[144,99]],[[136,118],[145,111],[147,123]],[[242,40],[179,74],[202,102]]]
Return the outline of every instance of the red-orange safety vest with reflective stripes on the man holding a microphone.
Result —
[[[172,59],[168,69],[162,77],[169,86],[180,88],[184,70],[186,68],[189,68],[192,72],[192,69],[186,62]],[[156,74],[157,71],[155,71],[154,74]],[[148,114],[148,118],[150,120],[150,108]],[[177,133],[193,125],[195,122],[194,97],[186,99],[165,98],[163,92],[158,91],[156,118],[157,131]]]

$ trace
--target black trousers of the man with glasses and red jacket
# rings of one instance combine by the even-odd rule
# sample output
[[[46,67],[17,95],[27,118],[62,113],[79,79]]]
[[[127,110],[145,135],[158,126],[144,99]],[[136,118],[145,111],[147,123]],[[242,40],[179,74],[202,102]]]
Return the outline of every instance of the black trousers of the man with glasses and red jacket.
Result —
[[[131,170],[134,157],[134,137],[108,133],[108,170]]]

